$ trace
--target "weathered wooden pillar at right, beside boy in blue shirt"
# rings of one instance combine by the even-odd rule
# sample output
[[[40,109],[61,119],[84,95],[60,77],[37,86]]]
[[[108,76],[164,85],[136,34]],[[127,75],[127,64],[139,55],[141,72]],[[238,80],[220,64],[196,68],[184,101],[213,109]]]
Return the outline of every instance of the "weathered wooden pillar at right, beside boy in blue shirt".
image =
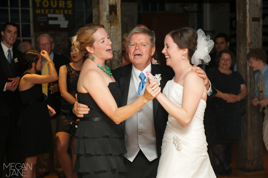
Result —
[[[262,47],[262,0],[236,1],[237,69],[248,89],[247,114],[241,117],[242,139],[238,142],[238,169],[263,170],[262,113],[251,103],[255,97],[255,73],[249,67],[246,54]]]

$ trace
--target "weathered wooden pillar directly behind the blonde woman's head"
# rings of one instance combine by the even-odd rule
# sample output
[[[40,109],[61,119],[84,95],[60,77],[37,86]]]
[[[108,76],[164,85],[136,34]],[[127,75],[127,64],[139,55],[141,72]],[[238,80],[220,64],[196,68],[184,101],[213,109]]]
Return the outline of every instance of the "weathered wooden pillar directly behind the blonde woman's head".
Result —
[[[100,23],[112,41],[113,58],[106,61],[111,69],[122,65],[121,0],[93,0],[93,23]]]

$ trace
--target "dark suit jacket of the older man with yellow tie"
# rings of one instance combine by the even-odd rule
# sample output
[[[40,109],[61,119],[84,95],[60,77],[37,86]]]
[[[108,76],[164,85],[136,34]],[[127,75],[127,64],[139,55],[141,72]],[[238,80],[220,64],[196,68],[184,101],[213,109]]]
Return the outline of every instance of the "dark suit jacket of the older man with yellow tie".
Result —
[[[59,76],[60,67],[70,63],[70,59],[54,53],[53,62]],[[58,84],[59,81],[57,80],[54,83]],[[57,115],[60,114],[60,92],[50,94],[50,90],[48,90],[48,105],[50,105],[56,111],[56,115],[53,116],[53,118],[56,118]]]

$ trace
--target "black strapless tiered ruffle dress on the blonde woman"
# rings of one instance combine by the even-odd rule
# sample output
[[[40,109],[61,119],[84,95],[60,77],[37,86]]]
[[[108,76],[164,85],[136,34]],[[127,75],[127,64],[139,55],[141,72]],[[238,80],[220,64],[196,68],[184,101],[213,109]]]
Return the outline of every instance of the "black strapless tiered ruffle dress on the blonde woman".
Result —
[[[121,105],[121,89],[116,82],[109,84],[118,107]],[[96,104],[89,93],[77,93],[79,103],[90,108],[88,114],[80,118],[75,134],[77,154],[74,172],[86,178],[123,178],[124,131],[122,124],[115,124]],[[104,101],[108,102],[108,101]]]

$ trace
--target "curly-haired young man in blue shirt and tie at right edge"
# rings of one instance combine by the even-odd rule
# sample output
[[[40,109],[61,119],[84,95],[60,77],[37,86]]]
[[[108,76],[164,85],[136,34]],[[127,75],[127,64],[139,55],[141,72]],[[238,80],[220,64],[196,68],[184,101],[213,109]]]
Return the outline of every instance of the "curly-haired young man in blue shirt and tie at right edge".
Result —
[[[264,112],[263,141],[268,150],[268,65],[266,52],[261,48],[252,49],[247,53],[249,66],[255,73],[255,94],[252,100],[254,106],[260,105],[260,112]]]

